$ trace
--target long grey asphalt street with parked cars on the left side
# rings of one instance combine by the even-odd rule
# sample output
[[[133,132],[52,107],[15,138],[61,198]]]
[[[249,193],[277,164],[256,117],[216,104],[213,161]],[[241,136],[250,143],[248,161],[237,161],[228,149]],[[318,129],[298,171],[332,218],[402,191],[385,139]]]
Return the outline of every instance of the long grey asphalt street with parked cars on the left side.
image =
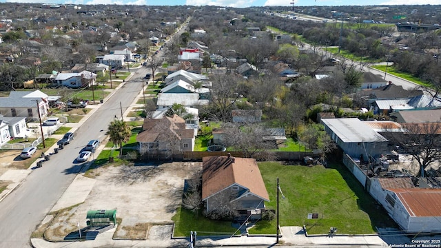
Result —
[[[74,163],[79,152],[91,139],[103,140],[114,116],[132,104],[142,87],[142,77],[151,70],[131,70],[127,81],[83,125],[76,130],[74,140],[58,154],[35,169],[17,189],[0,202],[0,247],[30,247],[30,235],[57,203],[82,167]],[[121,105],[120,105],[121,103]],[[120,107],[121,106],[121,107]],[[52,152],[52,151],[50,151]]]

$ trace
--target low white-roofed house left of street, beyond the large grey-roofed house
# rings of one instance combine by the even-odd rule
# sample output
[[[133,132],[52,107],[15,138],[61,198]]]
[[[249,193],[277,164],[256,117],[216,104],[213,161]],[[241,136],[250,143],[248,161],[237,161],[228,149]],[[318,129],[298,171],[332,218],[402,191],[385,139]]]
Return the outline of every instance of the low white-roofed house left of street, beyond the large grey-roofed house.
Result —
[[[83,71],[79,73],[59,73],[53,83],[57,86],[65,86],[72,88],[90,87],[95,85],[96,74],[93,72]]]

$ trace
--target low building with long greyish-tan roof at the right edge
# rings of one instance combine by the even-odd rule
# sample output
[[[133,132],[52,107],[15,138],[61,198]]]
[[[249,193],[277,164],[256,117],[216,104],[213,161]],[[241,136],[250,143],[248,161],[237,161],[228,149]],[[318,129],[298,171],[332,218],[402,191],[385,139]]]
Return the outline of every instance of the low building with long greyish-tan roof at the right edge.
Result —
[[[398,123],[437,122],[441,118],[441,108],[432,110],[402,110],[389,114]]]

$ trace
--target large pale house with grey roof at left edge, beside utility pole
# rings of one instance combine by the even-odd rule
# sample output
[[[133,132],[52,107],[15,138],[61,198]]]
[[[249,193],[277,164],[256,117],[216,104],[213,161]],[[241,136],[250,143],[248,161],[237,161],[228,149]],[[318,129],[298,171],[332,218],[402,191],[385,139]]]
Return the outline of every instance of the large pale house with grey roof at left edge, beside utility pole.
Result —
[[[37,109],[38,106],[38,109]],[[0,97],[0,114],[6,117],[27,117],[28,121],[48,114],[48,95],[39,90],[12,91],[8,97]]]

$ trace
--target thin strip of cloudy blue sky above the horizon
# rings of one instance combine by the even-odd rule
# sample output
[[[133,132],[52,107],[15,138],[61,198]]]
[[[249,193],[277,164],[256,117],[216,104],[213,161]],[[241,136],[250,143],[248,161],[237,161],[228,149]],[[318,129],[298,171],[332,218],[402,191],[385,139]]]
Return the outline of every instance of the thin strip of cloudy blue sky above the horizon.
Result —
[[[376,5],[439,5],[440,0],[0,0],[0,3],[72,3],[72,4],[130,4],[146,6],[225,6],[247,8],[250,6],[376,6]]]

